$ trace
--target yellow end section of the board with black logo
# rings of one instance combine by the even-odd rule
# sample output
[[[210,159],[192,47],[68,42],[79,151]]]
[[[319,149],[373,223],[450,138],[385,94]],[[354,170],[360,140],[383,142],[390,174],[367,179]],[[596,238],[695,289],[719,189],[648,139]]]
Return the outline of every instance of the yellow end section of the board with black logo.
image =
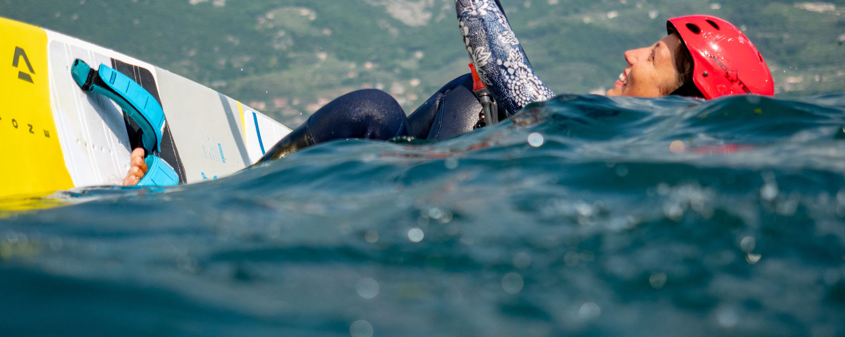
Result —
[[[50,108],[46,33],[0,18],[0,35],[0,196],[72,188]]]

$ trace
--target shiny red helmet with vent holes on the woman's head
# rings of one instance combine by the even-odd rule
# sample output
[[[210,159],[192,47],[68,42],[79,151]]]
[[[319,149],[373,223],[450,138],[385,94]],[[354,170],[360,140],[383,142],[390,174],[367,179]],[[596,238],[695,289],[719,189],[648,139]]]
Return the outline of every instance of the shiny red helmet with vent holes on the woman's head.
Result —
[[[760,51],[728,21],[709,15],[669,19],[693,62],[692,80],[705,99],[729,94],[774,95],[775,83]]]

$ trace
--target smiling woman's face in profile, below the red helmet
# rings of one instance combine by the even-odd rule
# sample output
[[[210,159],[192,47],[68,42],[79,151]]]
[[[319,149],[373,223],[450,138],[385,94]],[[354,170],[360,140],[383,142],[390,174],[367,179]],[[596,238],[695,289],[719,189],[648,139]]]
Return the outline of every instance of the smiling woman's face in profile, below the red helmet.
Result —
[[[681,47],[678,34],[667,35],[656,44],[625,51],[628,67],[608,90],[608,96],[662,97],[680,88],[675,54]]]

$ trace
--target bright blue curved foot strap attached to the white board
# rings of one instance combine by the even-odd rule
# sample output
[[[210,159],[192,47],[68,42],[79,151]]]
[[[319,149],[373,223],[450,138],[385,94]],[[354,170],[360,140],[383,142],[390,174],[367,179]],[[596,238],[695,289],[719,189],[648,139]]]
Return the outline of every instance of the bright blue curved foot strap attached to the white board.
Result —
[[[76,59],[70,73],[80,88],[112,99],[141,128],[141,142],[147,153],[144,158],[147,173],[138,185],[177,185],[179,176],[176,170],[152,154],[161,151],[161,135],[165,126],[164,110],[155,97],[132,78],[105,64],[94,70]]]

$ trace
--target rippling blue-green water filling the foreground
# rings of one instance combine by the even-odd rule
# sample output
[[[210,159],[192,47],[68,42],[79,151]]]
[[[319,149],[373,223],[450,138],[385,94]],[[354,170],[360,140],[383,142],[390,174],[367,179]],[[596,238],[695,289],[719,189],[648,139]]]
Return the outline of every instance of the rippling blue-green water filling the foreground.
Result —
[[[845,95],[559,97],[0,220],[3,335],[845,334]]]

